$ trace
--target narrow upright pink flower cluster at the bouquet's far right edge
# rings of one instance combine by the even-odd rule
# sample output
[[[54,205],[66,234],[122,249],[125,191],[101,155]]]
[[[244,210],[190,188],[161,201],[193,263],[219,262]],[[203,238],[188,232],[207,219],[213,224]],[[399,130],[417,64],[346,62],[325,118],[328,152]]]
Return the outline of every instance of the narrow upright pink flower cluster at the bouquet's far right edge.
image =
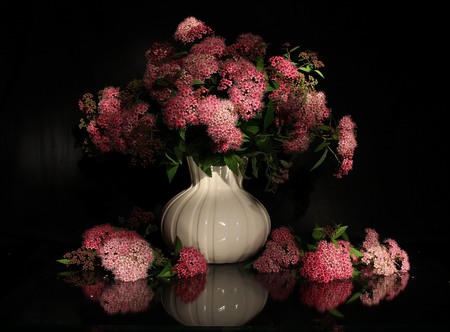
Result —
[[[339,121],[337,129],[339,132],[337,153],[340,156],[341,165],[336,177],[342,178],[343,175],[347,175],[353,168],[353,155],[357,147],[356,125],[352,118],[347,115]]]

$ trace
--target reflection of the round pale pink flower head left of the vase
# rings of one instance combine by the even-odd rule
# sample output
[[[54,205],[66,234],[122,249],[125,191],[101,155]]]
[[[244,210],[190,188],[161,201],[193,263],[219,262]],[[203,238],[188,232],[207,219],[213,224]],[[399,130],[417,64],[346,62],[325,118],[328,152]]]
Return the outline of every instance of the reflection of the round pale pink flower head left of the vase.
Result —
[[[144,312],[154,297],[146,279],[132,282],[115,281],[102,292],[99,302],[106,313]]]

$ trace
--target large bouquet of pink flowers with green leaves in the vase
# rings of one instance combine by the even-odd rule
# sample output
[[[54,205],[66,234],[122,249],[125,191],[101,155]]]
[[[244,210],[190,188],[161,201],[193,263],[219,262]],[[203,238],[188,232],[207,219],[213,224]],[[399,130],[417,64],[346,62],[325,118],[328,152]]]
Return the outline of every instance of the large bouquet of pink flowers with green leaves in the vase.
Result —
[[[265,175],[269,191],[308,150],[320,153],[312,169],[330,154],[336,177],[352,169],[356,125],[348,115],[335,121],[316,89],[324,66],[317,53],[285,44],[281,55],[269,55],[252,33],[227,44],[195,17],[173,36],[146,51],[141,78],[80,99],[90,155],[120,153],[142,166],[158,161],[169,181],[191,156],[207,174],[227,165],[246,178]]]

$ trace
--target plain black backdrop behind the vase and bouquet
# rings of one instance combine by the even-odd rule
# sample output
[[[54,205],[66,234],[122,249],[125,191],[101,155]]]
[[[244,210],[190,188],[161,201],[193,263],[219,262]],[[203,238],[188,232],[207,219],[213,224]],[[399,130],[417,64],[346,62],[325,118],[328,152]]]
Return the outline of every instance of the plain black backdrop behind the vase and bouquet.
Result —
[[[355,237],[372,227],[401,246],[447,242],[447,18],[433,2],[407,3],[2,2],[2,240],[79,244],[87,227],[136,205],[158,212],[187,185],[183,172],[169,185],[159,168],[83,158],[77,103],[140,78],[150,45],[195,16],[229,43],[253,32],[317,51],[328,105],[357,123],[347,177],[298,169],[276,195],[244,183],[274,225],[309,236],[315,223],[341,223]]]

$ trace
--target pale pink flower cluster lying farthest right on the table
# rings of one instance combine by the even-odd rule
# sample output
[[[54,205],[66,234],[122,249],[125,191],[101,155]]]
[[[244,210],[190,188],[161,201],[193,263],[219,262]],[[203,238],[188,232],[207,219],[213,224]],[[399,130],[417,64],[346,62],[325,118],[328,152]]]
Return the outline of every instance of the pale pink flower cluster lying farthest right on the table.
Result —
[[[372,228],[366,228],[365,231],[361,262],[371,267],[374,275],[389,276],[409,271],[409,256],[399,247],[397,241],[386,239],[380,243],[377,231]]]

